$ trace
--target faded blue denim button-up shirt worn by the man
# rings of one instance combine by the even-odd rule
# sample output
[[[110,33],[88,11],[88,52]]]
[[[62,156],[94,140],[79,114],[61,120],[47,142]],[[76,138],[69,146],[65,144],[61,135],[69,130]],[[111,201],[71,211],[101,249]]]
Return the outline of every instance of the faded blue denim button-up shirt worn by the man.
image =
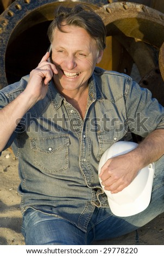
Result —
[[[0,108],[26,88],[29,76],[3,88]],[[49,83],[9,139],[18,157],[21,209],[54,214],[86,231],[96,207],[109,207],[98,179],[104,151],[129,132],[146,137],[163,129],[164,111],[129,76],[96,68],[89,80],[84,120]]]

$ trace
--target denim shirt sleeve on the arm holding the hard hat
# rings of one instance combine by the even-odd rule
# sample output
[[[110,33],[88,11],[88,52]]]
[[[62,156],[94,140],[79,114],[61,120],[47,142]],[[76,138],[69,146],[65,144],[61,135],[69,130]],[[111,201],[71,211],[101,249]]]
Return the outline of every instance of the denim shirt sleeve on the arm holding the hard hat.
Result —
[[[146,137],[154,130],[164,129],[164,108],[152,97],[150,90],[132,81],[125,101],[131,132]]]

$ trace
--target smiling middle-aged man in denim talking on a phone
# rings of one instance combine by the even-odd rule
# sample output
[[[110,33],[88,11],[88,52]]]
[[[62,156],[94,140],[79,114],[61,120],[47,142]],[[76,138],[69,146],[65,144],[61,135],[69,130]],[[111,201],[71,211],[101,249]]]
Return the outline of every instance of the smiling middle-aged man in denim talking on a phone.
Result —
[[[59,7],[48,35],[51,54],[0,95],[1,151],[13,142],[19,160],[26,245],[87,245],[127,234],[164,209],[164,110],[129,76],[95,68],[105,27],[90,8]],[[106,161],[102,185],[122,191],[154,161],[156,174],[148,208],[121,218],[109,208],[98,164],[128,131],[145,139]]]

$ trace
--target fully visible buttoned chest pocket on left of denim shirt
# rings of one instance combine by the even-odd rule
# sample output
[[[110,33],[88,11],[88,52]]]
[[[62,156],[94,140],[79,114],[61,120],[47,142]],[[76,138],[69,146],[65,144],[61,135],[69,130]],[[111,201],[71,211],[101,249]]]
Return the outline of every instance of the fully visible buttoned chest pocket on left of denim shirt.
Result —
[[[46,138],[30,138],[34,163],[41,172],[53,174],[68,168],[68,135],[56,135]]]

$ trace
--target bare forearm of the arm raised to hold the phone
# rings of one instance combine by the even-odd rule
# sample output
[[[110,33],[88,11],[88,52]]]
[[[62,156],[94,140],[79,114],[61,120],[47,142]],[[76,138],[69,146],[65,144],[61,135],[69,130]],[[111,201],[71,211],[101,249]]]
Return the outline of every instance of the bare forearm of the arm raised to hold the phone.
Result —
[[[4,149],[18,122],[31,106],[33,103],[23,92],[0,110],[0,151]]]

